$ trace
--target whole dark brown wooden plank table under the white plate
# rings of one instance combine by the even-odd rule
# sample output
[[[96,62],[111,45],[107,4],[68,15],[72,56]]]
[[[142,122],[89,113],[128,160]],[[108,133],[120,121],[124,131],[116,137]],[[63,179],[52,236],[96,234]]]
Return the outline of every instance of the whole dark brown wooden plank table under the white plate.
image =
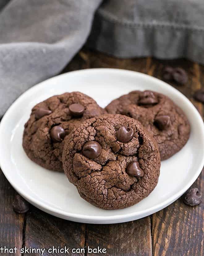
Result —
[[[203,105],[193,100],[193,92],[204,86],[204,66],[187,60],[161,61],[151,57],[117,59],[101,53],[81,50],[63,72],[84,68],[121,68],[162,77],[164,65],[184,68],[189,75],[185,86],[177,86],[203,116]],[[62,73],[63,73],[62,72]],[[15,173],[14,173],[15,175]],[[173,177],[172,177],[173,178]],[[194,186],[204,193],[204,172]],[[93,225],[65,221],[40,211],[34,206],[27,214],[16,214],[12,202],[16,192],[0,171],[0,247],[84,248],[85,253],[53,253],[44,255],[106,256],[202,256],[203,203],[186,206],[181,199],[146,218],[112,225]],[[87,248],[106,248],[106,254],[88,253]],[[19,250],[16,254],[21,255]],[[23,254],[22,254],[23,255]],[[24,254],[40,255],[40,254]]]

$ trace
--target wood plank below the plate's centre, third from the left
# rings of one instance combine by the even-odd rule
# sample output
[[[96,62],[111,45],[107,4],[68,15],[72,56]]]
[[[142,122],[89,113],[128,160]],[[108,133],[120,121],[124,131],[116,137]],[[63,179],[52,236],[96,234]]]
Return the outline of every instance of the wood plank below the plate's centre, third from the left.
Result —
[[[106,256],[151,256],[151,222],[150,218],[111,224],[87,224],[87,256],[90,248],[105,248]],[[103,254],[102,254],[103,255]]]

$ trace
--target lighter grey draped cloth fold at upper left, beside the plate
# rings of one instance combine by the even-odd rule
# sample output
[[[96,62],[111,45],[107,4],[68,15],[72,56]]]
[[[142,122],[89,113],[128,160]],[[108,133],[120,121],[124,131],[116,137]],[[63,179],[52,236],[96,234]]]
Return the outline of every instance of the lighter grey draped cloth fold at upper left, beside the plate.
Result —
[[[101,0],[11,0],[0,12],[0,118],[85,43]]]

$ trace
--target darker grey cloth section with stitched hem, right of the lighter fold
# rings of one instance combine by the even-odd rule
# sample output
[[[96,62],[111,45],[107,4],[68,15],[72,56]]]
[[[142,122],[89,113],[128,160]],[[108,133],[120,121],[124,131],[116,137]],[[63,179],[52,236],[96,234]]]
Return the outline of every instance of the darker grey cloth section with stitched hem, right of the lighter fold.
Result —
[[[185,57],[204,64],[203,0],[110,0],[87,45],[117,57]]]

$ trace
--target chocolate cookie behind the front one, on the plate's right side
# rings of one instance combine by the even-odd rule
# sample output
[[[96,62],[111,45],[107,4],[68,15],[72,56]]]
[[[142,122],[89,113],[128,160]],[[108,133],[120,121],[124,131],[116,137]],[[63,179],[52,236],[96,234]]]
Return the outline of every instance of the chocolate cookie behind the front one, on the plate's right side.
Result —
[[[158,142],[161,160],[174,155],[189,139],[190,125],[184,112],[161,93],[133,91],[113,100],[106,110],[139,120]]]

